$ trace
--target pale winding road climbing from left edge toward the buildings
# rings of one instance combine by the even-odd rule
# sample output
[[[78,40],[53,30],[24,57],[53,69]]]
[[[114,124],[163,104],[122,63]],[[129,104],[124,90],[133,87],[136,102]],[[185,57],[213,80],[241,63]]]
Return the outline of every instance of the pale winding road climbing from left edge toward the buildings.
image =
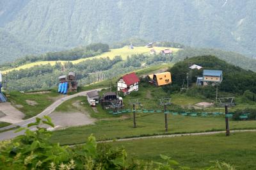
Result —
[[[87,93],[90,91],[94,91],[94,90],[100,91],[101,89],[102,88],[92,89],[92,90],[88,90],[88,91],[82,91],[82,92],[76,93],[74,95],[69,95],[69,96],[60,98],[60,99],[56,100],[53,104],[49,105],[49,107],[47,107],[44,111],[40,112],[40,114],[34,116],[33,118],[29,118],[28,120],[24,120],[22,122],[12,124],[8,127],[0,128],[0,131],[8,130],[10,128],[17,127],[17,126],[26,127],[29,123],[35,122],[36,118],[42,118],[44,116],[51,114],[51,112],[53,112],[56,109],[56,107],[61,105],[63,102],[70,100],[71,98],[74,98],[74,97],[86,96]],[[35,130],[35,127],[31,127],[31,130]],[[14,133],[14,132],[15,132],[15,130],[9,130],[9,131],[0,133],[0,141],[6,140],[6,139],[12,139],[13,137],[16,137],[17,135],[24,133],[24,132]]]

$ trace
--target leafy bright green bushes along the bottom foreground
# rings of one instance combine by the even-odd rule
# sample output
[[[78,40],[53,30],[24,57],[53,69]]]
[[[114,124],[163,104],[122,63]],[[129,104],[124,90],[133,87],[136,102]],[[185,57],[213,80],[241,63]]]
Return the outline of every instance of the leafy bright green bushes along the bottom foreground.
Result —
[[[111,148],[106,143],[98,144],[93,135],[81,146],[69,147],[49,143],[52,132],[47,131],[45,125],[54,127],[51,118],[36,118],[36,122],[28,124],[28,128],[17,130],[25,130],[24,135],[1,142],[0,169],[189,169],[179,166],[178,162],[165,155],[160,155],[164,163],[129,161],[124,148]],[[36,130],[30,130],[31,126],[36,126]],[[206,169],[234,167],[215,162],[215,166]]]

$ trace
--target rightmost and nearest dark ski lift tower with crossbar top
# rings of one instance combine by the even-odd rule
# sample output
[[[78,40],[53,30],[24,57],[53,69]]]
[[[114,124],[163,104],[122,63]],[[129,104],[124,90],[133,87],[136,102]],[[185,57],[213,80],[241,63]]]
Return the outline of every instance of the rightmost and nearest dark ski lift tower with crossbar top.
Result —
[[[230,135],[229,125],[228,125],[228,118],[232,116],[232,114],[228,114],[228,107],[234,106],[234,98],[235,97],[223,97],[218,98],[220,105],[225,107],[225,123],[226,123],[226,136]]]

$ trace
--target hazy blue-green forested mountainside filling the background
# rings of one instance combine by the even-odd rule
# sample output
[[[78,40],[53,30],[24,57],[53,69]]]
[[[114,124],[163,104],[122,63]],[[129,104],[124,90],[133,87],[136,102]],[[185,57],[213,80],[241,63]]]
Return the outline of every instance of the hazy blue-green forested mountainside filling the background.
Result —
[[[12,61],[41,50],[129,38],[166,40],[253,56],[255,7],[253,0],[4,0],[0,2],[0,27],[12,35],[13,41],[6,41],[1,48],[0,62],[6,56]],[[13,48],[16,39],[33,48]]]

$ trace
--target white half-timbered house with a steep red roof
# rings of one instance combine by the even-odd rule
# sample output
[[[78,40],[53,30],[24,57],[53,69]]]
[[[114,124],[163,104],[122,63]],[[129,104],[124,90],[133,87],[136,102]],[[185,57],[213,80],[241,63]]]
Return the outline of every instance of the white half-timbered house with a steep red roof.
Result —
[[[129,95],[132,91],[139,90],[140,79],[136,73],[129,73],[121,77],[117,82],[117,91],[122,91],[124,95]]]

